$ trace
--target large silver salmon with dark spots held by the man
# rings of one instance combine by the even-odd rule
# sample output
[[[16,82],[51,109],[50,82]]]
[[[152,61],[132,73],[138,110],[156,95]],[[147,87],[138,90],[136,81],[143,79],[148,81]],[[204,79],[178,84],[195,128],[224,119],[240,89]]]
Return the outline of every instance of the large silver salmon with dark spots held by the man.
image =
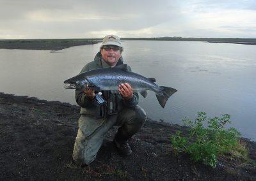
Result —
[[[172,87],[156,85],[155,78],[146,78],[128,71],[127,64],[114,68],[93,69],[65,80],[66,89],[93,89],[95,91],[116,91],[121,83],[129,83],[134,91],[140,92],[143,98],[147,97],[147,90],[156,92],[159,104],[164,108],[166,101],[177,92]]]

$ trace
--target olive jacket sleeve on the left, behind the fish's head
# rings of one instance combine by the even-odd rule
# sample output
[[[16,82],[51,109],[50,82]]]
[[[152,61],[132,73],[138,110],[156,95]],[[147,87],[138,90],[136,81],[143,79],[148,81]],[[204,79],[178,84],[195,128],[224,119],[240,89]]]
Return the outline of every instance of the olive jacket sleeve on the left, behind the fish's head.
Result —
[[[84,68],[81,70],[80,73],[83,73],[85,71],[88,71],[88,66],[84,66]],[[84,92],[81,90],[77,90],[75,92],[75,97],[76,97],[76,103],[77,105],[81,106],[82,108],[88,108],[91,107],[92,104],[92,99],[88,98],[87,96],[85,96]]]

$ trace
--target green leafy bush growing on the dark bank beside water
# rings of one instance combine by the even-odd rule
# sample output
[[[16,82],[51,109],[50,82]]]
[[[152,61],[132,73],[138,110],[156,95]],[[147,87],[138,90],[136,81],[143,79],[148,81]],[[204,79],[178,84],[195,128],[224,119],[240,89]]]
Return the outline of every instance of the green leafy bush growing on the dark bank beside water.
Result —
[[[246,148],[241,145],[239,136],[241,134],[233,127],[226,129],[230,124],[230,115],[207,119],[205,112],[198,112],[194,121],[183,119],[185,126],[189,127],[188,136],[180,136],[177,131],[171,137],[173,151],[176,154],[186,152],[195,162],[202,162],[208,166],[215,167],[218,156],[232,154],[240,159],[246,159]],[[208,124],[207,127],[204,124]]]

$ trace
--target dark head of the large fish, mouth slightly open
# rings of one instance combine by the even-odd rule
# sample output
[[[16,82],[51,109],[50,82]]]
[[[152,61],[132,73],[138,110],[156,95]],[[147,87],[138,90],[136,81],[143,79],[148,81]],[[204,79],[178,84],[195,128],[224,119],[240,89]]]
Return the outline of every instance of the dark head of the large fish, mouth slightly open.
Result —
[[[89,82],[86,78],[81,78],[78,75],[65,80],[64,83],[66,84],[65,89],[85,89]]]

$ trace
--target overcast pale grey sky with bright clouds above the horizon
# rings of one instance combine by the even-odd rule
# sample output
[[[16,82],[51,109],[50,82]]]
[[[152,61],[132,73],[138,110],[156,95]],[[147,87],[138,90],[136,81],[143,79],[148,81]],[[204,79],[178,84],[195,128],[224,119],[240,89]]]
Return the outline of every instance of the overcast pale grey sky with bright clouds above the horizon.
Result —
[[[256,38],[256,0],[0,0],[0,39]]]

